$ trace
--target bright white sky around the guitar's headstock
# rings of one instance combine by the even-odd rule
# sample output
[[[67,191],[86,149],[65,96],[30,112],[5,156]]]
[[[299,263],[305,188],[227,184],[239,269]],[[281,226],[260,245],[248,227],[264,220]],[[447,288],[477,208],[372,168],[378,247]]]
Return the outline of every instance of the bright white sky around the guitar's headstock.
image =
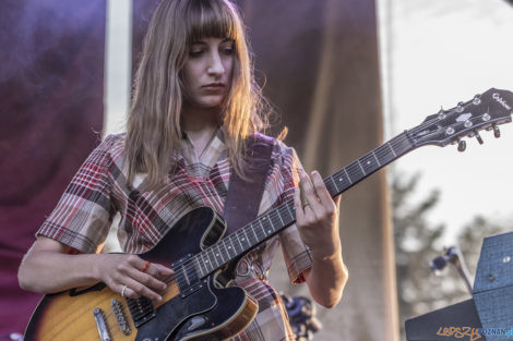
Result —
[[[453,108],[490,87],[513,90],[513,7],[502,0],[379,0],[387,138],[427,115]],[[481,132],[467,148],[421,147],[394,163],[420,172],[417,199],[432,188],[441,198],[431,224],[445,223],[444,242],[475,216],[513,227],[513,124],[501,137]]]

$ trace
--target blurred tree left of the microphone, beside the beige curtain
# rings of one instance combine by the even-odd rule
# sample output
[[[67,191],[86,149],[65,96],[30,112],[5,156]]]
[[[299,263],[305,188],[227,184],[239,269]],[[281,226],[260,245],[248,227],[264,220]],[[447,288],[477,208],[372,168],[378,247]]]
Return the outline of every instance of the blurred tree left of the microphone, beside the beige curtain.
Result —
[[[449,273],[443,277],[434,276],[430,269],[430,260],[441,254],[445,227],[432,226],[426,217],[439,202],[438,190],[418,203],[413,199],[419,181],[419,174],[396,173],[391,183],[402,339],[405,319],[469,296],[455,269],[446,269]]]

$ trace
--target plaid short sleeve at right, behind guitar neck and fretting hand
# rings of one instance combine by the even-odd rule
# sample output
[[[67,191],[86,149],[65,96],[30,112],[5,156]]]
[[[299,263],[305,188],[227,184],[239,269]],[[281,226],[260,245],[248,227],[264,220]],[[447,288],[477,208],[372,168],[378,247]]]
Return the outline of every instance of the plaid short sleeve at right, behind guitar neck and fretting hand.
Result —
[[[282,148],[283,192],[281,202],[285,203],[294,199],[294,192],[299,184],[303,169],[294,148],[286,147],[283,144],[278,145]],[[312,266],[312,257],[310,248],[302,242],[296,224],[288,227],[279,234],[279,242],[290,282],[293,284],[303,282],[302,272]]]

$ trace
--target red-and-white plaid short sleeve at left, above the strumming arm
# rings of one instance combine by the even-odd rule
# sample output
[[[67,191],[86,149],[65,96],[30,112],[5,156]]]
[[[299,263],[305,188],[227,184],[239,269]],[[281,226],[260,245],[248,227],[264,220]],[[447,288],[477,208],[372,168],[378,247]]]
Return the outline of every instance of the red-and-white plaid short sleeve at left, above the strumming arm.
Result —
[[[51,238],[81,253],[96,252],[115,215],[109,170],[116,141],[117,135],[109,135],[93,150],[36,235]]]

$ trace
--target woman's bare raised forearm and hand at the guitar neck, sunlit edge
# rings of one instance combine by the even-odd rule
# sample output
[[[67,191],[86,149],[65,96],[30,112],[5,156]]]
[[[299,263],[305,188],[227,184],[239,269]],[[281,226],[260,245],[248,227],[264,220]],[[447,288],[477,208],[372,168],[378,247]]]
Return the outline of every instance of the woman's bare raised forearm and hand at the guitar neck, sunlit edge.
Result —
[[[317,171],[311,180],[306,174],[301,176],[301,187],[308,204],[301,204],[299,190],[296,191],[297,227],[313,258],[312,267],[303,273],[312,297],[333,307],[341,301],[348,278],[338,236],[339,197],[332,199]]]

